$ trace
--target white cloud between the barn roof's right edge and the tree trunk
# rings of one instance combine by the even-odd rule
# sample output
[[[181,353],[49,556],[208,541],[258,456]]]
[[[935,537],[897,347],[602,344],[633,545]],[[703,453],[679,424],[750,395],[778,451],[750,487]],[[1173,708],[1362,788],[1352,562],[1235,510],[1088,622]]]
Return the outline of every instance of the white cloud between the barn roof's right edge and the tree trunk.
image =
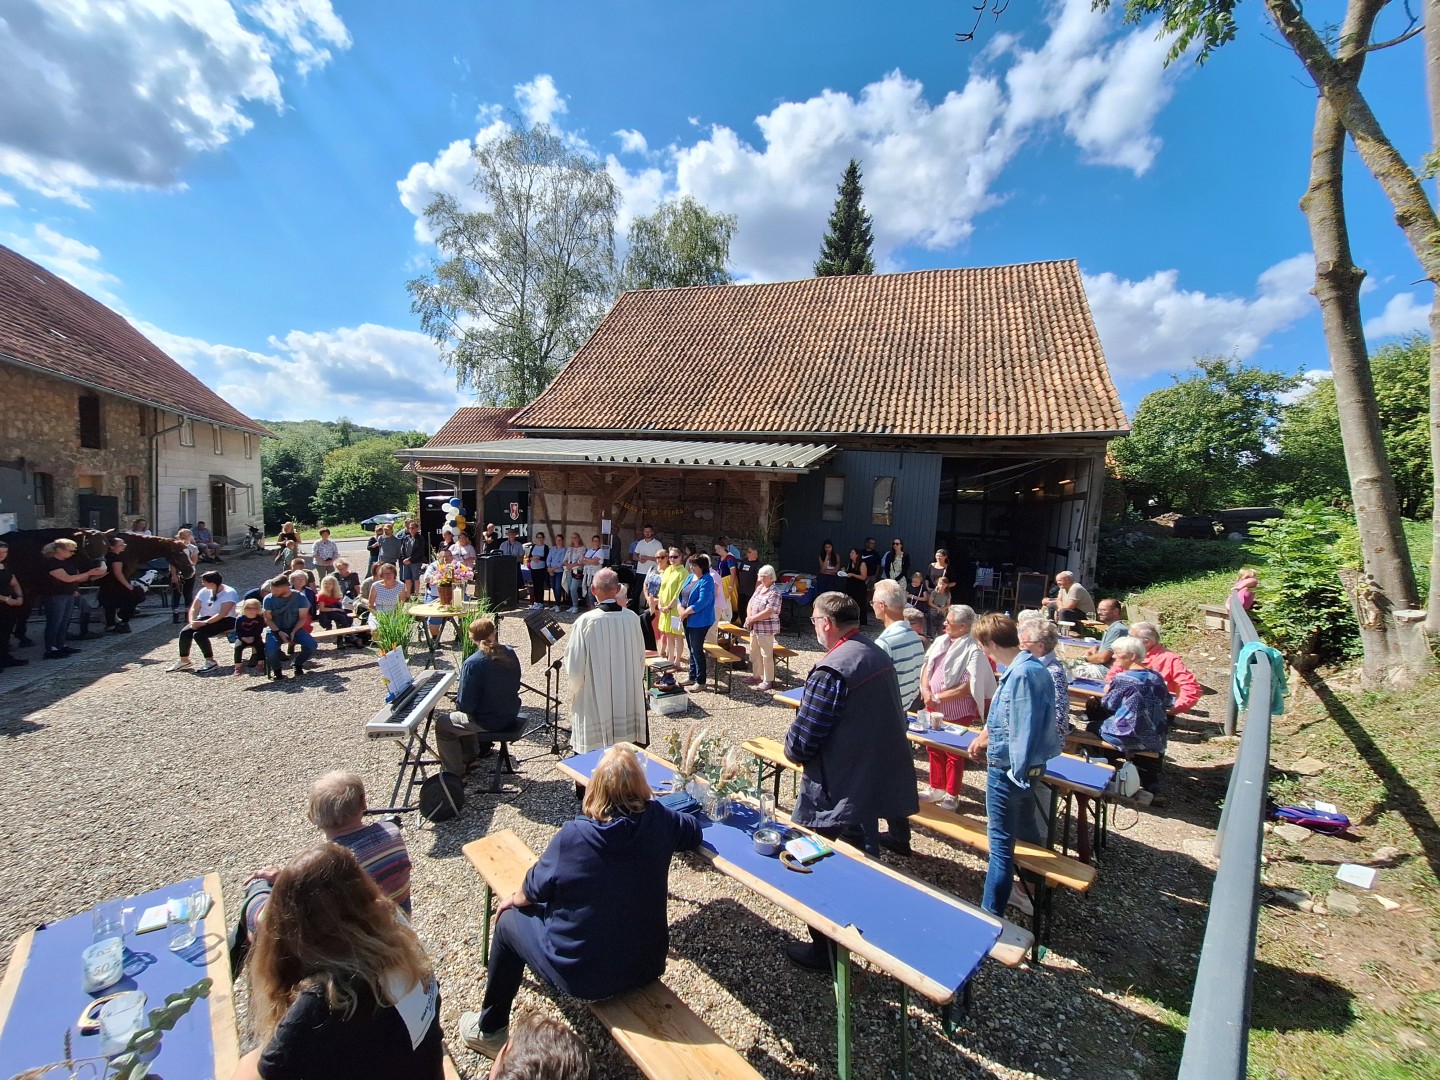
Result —
[[[1179,372],[1198,356],[1253,356],[1270,334],[1315,311],[1309,253],[1277,262],[1256,281],[1250,300],[1179,287],[1179,272],[1142,281],[1086,274],[1086,295],[1117,382]]]

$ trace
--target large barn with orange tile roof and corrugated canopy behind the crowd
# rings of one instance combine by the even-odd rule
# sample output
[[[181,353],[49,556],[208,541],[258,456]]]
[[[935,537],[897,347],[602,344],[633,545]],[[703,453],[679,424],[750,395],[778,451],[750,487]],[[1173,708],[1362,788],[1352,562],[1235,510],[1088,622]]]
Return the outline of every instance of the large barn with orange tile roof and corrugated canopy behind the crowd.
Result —
[[[527,474],[527,526],[609,521],[621,552],[648,523],[701,550],[759,539],[782,572],[876,537],[916,567],[948,547],[962,577],[1092,580],[1128,429],[1061,261],[628,292],[507,438],[403,456],[467,508]]]

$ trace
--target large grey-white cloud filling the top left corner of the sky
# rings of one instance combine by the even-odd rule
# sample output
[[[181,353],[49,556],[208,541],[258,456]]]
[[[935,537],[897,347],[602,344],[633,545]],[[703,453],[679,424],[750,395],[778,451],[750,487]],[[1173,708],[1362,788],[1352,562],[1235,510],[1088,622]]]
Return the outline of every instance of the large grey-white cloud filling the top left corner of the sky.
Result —
[[[284,65],[304,73],[348,45],[330,0],[9,0],[0,176],[75,206],[96,187],[174,187],[251,128],[251,105],[282,108]]]

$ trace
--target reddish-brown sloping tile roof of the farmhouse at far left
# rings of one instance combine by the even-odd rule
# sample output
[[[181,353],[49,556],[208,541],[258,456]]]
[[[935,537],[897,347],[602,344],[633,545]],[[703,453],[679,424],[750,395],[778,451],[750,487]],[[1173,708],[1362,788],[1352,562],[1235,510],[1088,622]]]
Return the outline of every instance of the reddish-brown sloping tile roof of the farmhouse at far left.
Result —
[[[0,246],[0,360],[194,419],[269,435],[125,318]]]

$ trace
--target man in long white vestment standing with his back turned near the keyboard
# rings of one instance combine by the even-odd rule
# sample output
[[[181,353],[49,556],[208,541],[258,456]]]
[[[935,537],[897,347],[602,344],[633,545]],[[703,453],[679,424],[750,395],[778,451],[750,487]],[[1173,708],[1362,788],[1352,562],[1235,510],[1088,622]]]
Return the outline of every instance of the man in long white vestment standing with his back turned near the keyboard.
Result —
[[[619,576],[609,567],[595,575],[592,592],[598,605],[575,621],[564,651],[570,747],[576,753],[649,742],[639,615],[621,605]]]

